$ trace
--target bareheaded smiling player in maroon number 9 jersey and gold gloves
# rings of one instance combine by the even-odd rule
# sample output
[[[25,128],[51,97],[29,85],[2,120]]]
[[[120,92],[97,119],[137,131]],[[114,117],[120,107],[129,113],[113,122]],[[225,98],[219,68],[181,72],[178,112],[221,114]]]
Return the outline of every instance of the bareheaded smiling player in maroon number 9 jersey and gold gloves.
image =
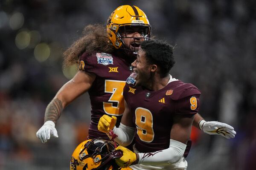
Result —
[[[125,113],[121,124],[117,128],[113,126],[114,117],[100,118],[99,130],[105,133],[113,130],[117,135],[116,142],[121,146],[116,150],[123,152],[116,159],[120,167],[186,170],[184,153],[201,92],[169,74],[174,64],[171,45],[157,40],[142,42],[137,59],[131,64],[134,72],[123,91]],[[131,151],[125,146],[133,139]]]

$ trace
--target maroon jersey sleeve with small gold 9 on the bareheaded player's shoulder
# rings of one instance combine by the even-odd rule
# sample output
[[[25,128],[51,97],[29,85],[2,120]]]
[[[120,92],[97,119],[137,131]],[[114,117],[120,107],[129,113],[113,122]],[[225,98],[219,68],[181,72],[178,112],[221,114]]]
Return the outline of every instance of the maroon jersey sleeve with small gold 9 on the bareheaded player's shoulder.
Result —
[[[180,99],[175,101],[176,114],[196,114],[199,110],[201,92],[197,88],[189,88],[180,95]]]

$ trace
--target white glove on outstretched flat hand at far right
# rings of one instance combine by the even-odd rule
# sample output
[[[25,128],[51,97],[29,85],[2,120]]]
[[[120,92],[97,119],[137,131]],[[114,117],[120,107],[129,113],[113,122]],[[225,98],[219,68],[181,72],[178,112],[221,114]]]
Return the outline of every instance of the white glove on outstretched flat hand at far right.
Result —
[[[236,135],[234,127],[216,121],[206,122],[205,120],[201,120],[199,122],[199,128],[209,135],[221,135],[227,139],[234,138]]]

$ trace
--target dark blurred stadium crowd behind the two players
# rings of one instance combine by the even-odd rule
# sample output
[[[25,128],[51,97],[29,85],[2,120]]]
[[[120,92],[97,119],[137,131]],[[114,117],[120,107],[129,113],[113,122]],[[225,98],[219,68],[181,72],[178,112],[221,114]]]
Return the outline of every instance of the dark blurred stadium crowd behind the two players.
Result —
[[[62,113],[58,139],[42,144],[35,133],[77,71],[62,68],[62,53],[120,5],[141,8],[152,34],[175,45],[171,74],[201,90],[201,115],[237,132],[228,140],[193,129],[188,170],[256,169],[255,0],[1,0],[0,170],[69,169],[87,136],[87,94]]]

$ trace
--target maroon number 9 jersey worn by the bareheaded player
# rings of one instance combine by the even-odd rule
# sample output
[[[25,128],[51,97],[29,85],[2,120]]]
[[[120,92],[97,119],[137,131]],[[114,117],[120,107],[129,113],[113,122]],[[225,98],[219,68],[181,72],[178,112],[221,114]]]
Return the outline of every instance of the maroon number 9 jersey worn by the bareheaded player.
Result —
[[[135,147],[141,153],[169,148],[175,114],[198,113],[201,92],[180,80],[169,82],[159,91],[125,85],[124,98],[133,113]]]

